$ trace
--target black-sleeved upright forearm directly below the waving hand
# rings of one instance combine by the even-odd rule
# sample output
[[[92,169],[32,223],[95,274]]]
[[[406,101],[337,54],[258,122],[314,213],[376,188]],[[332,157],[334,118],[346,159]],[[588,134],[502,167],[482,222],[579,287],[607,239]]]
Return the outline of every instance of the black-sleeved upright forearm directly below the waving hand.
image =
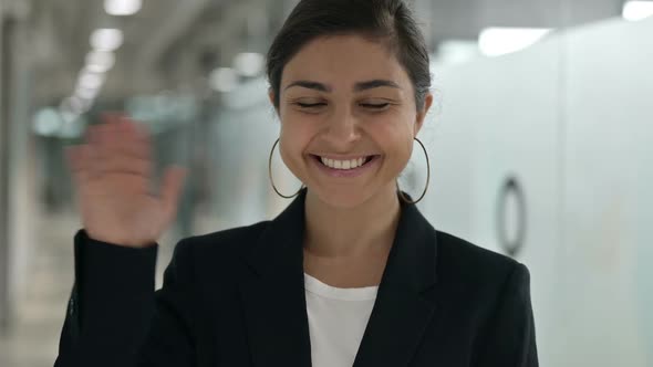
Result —
[[[135,365],[154,313],[156,251],[75,235],[75,286],[55,366]]]

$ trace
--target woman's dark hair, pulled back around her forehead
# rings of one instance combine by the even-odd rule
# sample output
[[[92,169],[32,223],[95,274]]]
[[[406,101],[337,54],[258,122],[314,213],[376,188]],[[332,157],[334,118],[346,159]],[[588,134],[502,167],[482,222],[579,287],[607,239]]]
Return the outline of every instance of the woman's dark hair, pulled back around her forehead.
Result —
[[[431,88],[428,52],[411,9],[403,0],[301,0],[268,51],[267,73],[279,108],[286,64],[320,36],[360,34],[383,42],[406,70],[417,109]]]

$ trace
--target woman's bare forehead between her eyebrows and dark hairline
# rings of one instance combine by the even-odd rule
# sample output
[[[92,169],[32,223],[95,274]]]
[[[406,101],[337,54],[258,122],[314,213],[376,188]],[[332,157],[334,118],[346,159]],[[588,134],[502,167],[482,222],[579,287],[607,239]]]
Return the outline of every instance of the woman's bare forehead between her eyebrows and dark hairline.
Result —
[[[387,45],[359,35],[332,35],[307,43],[283,69],[281,85],[311,80],[336,86],[375,78],[410,83]]]

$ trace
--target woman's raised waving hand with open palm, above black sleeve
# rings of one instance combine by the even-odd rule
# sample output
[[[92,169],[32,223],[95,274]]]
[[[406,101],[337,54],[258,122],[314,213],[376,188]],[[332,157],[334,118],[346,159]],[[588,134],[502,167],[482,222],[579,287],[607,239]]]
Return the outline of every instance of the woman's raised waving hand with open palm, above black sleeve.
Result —
[[[156,242],[174,220],[185,170],[168,168],[159,192],[152,188],[152,146],[145,127],[107,114],[68,150],[79,210],[89,237],[139,248]]]

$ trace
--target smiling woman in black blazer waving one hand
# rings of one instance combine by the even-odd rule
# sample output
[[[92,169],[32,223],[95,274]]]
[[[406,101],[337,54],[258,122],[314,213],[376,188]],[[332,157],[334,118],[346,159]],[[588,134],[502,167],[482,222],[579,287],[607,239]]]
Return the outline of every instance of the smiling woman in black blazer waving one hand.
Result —
[[[183,171],[151,195],[147,135],[122,117],[72,149],[84,229],[55,366],[537,366],[527,269],[397,190],[433,101],[406,6],[300,1],[268,77],[305,188],[272,221],[180,241],[156,293]]]

